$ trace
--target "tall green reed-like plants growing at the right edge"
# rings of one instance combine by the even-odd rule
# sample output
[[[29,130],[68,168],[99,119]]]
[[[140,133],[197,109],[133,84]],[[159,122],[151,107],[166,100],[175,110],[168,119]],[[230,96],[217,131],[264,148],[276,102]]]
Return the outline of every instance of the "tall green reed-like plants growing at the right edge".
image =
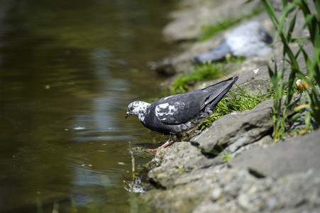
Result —
[[[316,7],[316,14],[311,13],[307,1],[294,0],[292,3],[287,0],[282,0],[283,10],[279,18],[275,15],[275,11],[270,4],[270,1],[261,0],[265,11],[270,16],[275,29],[283,44],[282,50],[282,64],[281,67],[268,67],[270,80],[272,82],[273,89],[275,90],[276,98],[274,99],[273,107],[273,123],[274,131],[272,133],[273,138],[277,141],[282,139],[287,134],[287,124],[296,121],[302,113],[305,113],[304,123],[306,124],[306,130],[319,128],[320,124],[320,102],[319,91],[316,88],[316,84],[320,83],[320,36],[319,36],[319,14],[320,14],[320,1],[314,0]],[[306,39],[293,38],[292,31],[294,29],[297,13],[302,11],[305,20],[305,26],[307,27],[310,35],[310,40],[314,46],[313,57],[307,55],[304,50],[303,42]],[[290,13],[294,13],[293,18],[290,20],[288,16]],[[289,21],[290,20],[290,21]],[[299,50],[294,53],[290,48],[289,43],[297,43]],[[305,62],[305,69],[299,67],[297,58],[299,55],[303,55]],[[311,59],[313,58],[313,59]],[[276,60],[275,60],[276,61]],[[286,67],[285,63],[289,63],[289,67]],[[287,84],[287,94],[283,97],[285,91],[284,72],[289,69],[289,82]],[[307,76],[306,76],[307,73]],[[304,94],[306,94],[309,104],[304,104],[299,107],[295,107],[299,99],[292,101],[292,95],[294,94],[294,80],[297,78],[307,82],[311,89],[306,89],[304,84]],[[284,102],[284,103],[283,103]],[[315,122],[311,122],[313,119]],[[306,131],[304,130],[304,132]]]

